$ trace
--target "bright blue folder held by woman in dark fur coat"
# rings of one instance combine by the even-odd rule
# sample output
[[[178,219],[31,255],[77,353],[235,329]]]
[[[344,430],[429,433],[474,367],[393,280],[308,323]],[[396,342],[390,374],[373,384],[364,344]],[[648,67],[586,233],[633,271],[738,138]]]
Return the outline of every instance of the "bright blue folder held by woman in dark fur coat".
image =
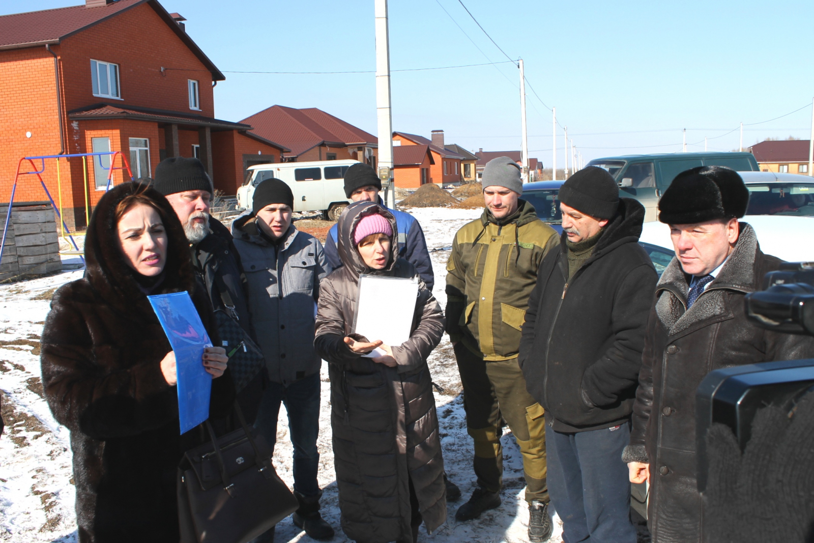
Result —
[[[212,375],[204,368],[204,348],[212,342],[190,295],[184,292],[147,296],[175,352],[178,375],[178,422],[181,433],[209,418]]]

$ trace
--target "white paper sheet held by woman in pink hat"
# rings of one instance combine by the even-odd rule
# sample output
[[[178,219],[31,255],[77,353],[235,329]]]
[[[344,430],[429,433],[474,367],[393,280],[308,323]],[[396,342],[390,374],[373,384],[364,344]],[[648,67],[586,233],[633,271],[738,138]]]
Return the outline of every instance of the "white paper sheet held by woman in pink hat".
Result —
[[[403,344],[409,339],[417,297],[418,278],[361,275],[353,331],[370,341],[381,339],[391,347]],[[385,354],[382,349],[375,348],[365,357],[382,357]]]

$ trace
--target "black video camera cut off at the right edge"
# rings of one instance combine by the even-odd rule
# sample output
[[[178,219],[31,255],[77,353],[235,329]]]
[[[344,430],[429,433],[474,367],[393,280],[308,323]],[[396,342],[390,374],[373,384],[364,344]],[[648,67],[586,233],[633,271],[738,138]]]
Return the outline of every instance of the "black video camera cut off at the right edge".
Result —
[[[764,277],[763,290],[746,295],[746,314],[767,330],[814,335],[814,262],[784,262]],[[695,392],[698,492],[707,488],[707,430],[732,429],[741,451],[759,408],[777,405],[790,416],[814,390],[814,359],[762,362],[710,372]]]

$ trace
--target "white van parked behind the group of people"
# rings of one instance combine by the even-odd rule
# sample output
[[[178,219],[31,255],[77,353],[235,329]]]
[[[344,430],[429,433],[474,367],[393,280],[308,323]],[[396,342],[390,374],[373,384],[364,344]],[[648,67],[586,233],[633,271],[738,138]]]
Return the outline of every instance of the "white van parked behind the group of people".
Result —
[[[294,211],[321,211],[326,219],[335,221],[350,202],[345,198],[345,172],[357,163],[358,160],[321,160],[250,166],[246,182],[238,189],[238,207],[251,208],[255,187],[269,177],[277,177],[291,187]]]

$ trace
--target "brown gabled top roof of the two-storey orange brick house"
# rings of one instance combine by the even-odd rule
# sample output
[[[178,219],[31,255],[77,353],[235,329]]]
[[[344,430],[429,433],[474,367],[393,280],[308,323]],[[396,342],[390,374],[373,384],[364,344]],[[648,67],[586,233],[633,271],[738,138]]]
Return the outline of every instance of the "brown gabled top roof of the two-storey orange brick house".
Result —
[[[157,0],[116,0],[100,7],[81,6],[60,7],[53,10],[28,11],[0,16],[0,50],[21,47],[56,45],[61,40],[94,24],[110,19],[123,11],[147,3],[157,13],[181,41],[198,57],[201,63],[212,72],[215,81],[223,81],[224,75],[214,63],[204,55]]]

